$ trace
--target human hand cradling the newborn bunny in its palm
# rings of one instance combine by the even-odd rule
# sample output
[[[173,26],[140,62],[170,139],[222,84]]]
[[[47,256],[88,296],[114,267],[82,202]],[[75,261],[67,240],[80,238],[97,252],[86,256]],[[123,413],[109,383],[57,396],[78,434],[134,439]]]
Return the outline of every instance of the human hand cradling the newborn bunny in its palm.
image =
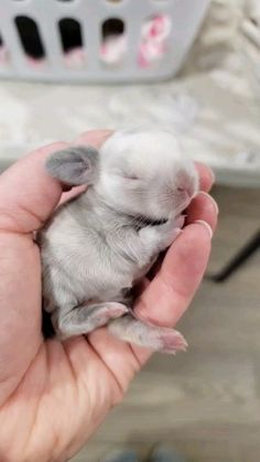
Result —
[[[109,135],[88,132],[77,143],[98,148]],[[46,158],[66,146],[59,142],[39,149],[0,178],[2,462],[72,458],[122,399],[151,355],[113,339],[106,327],[64,343],[42,336],[41,260],[33,236],[61,200],[79,191],[63,193],[44,169]],[[201,189],[207,192],[212,173],[201,164],[197,169]],[[210,251],[209,230],[216,222],[213,200],[199,193],[188,207],[187,226],[152,281],[145,280],[136,307],[140,318],[164,326],[176,324],[203,278]]]

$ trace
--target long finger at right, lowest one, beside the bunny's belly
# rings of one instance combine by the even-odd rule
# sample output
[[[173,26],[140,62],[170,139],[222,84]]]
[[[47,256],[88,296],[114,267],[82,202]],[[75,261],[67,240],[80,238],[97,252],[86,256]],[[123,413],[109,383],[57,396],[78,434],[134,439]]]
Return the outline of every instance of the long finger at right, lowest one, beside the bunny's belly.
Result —
[[[208,228],[204,222],[184,228],[139,299],[134,309],[139,318],[162,326],[176,324],[205,272],[212,246]]]

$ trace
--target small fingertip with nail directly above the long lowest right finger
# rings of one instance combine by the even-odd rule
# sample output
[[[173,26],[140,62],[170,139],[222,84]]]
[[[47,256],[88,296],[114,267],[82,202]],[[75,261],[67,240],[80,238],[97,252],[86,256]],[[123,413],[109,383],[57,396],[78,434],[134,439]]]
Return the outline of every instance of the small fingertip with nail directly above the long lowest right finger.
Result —
[[[213,230],[216,229],[218,206],[209,194],[199,192],[197,196],[194,197],[186,212],[186,225],[194,223],[197,219],[202,219],[208,223]]]

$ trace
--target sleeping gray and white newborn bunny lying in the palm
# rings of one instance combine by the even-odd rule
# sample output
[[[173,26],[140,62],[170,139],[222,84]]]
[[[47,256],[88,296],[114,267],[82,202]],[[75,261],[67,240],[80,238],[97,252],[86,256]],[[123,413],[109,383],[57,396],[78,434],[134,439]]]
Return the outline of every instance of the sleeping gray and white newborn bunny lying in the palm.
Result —
[[[66,339],[108,325],[141,346],[185,350],[177,331],[143,322],[132,311],[132,289],[178,235],[182,212],[198,190],[196,169],[174,135],[118,131],[99,151],[55,152],[46,169],[63,183],[88,185],[39,235],[44,309],[56,334]]]

